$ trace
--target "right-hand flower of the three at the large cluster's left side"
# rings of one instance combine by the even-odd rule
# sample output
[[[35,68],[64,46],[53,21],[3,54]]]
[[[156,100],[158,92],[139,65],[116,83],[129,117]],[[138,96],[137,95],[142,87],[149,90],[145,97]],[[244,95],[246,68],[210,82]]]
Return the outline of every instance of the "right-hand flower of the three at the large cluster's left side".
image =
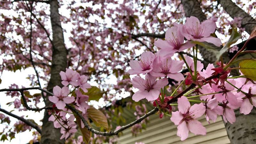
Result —
[[[150,72],[152,76],[164,77],[168,76],[176,81],[184,80],[184,76],[178,71],[182,70],[184,61],[172,60],[171,57],[164,58],[157,56],[153,61],[153,70]]]

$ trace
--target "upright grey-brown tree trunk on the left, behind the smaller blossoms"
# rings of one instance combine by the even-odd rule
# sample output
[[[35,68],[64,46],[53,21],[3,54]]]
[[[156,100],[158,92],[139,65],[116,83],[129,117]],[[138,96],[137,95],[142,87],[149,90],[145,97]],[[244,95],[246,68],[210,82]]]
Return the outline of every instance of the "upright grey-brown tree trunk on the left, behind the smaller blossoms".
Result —
[[[65,71],[67,67],[67,49],[64,44],[64,36],[60,23],[59,3],[57,0],[50,1],[50,18],[52,24],[52,67],[51,78],[47,90],[52,92],[54,86],[62,87],[60,71]],[[52,106],[52,102],[46,96],[46,106]],[[48,121],[49,115],[44,112],[42,125],[41,144],[64,144],[64,139],[60,140],[60,129],[56,129],[51,121]]]

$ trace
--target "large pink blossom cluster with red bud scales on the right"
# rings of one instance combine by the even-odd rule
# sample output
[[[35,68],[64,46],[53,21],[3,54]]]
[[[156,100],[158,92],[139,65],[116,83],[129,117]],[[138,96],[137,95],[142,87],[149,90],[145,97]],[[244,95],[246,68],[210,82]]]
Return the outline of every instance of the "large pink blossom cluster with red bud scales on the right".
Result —
[[[234,123],[236,116],[234,109],[240,108],[240,113],[249,114],[256,107],[256,85],[253,80],[241,76],[232,77],[230,75],[230,63],[218,62],[217,66],[209,64],[205,69],[204,65],[197,60],[194,53],[196,42],[208,42],[220,46],[220,39],[210,36],[214,33],[216,24],[212,20],[205,20],[200,24],[196,17],[187,18],[185,25],[174,24],[167,29],[166,40],[157,40],[155,45],[160,48],[158,52],[143,52],[140,60],[129,62],[132,69],[128,71],[133,74],[146,74],[145,79],[134,77],[132,84],[139,91],[135,92],[132,100],[139,101],[146,98],[148,101],[155,100],[153,105],[159,108],[160,118],[163,114],[170,116],[171,121],[178,125],[177,135],[181,140],[188,138],[189,131],[194,134],[206,134],[205,127],[196,120],[205,115],[206,120],[215,122],[217,116],[223,117],[227,123]],[[184,37],[186,42],[184,42]],[[195,47],[193,47],[195,46]],[[193,58],[183,56],[181,51],[193,47]],[[235,49],[235,48],[233,48]],[[234,51],[234,50],[230,51]],[[178,52],[183,61],[172,60],[171,56]],[[232,59],[233,60],[233,59]],[[187,77],[179,72],[186,64]],[[165,86],[168,78],[182,81],[177,89],[170,96],[165,94]],[[179,87],[183,81],[185,85],[194,87],[180,94]],[[163,89],[162,89],[163,88]],[[163,90],[163,91],[162,91]],[[174,96],[175,93],[177,96]],[[173,103],[177,100],[177,103]],[[192,102],[192,103],[190,103]],[[172,106],[178,106],[174,111]],[[172,115],[170,115],[172,113]]]

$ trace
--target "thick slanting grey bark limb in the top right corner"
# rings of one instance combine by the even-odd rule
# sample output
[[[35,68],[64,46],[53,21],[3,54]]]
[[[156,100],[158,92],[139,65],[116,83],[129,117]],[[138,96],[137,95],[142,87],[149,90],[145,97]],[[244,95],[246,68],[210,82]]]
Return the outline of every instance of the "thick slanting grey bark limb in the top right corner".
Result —
[[[248,13],[240,9],[231,0],[218,0],[225,11],[234,19],[235,17],[242,18],[241,26],[245,28],[248,34],[251,34],[252,30],[256,26],[256,20],[253,19]]]

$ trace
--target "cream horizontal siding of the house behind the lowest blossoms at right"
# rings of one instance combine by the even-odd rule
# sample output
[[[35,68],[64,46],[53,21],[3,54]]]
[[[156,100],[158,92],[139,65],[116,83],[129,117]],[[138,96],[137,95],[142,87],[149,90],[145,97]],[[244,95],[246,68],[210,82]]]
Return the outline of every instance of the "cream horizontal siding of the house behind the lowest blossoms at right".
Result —
[[[131,129],[123,131],[119,137],[120,144],[134,144],[144,142],[145,144],[229,144],[227,132],[221,117],[215,123],[208,124],[205,117],[198,119],[206,128],[206,135],[195,135],[189,132],[188,139],[180,141],[177,136],[177,126],[174,125],[169,117],[159,118],[158,115],[150,116],[146,130],[143,130],[136,137],[132,136]]]

